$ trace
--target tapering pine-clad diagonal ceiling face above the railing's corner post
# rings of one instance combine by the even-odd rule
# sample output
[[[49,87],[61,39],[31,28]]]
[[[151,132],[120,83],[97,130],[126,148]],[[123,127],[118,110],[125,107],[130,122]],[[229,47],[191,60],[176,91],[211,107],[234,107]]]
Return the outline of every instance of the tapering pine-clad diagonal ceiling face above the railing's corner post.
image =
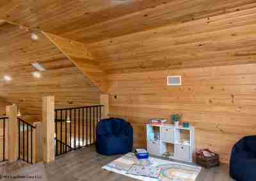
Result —
[[[107,76],[99,67],[99,62],[94,59],[83,43],[68,40],[55,34],[44,33],[56,47],[72,61],[84,75],[86,75],[99,90],[103,93],[107,92]]]

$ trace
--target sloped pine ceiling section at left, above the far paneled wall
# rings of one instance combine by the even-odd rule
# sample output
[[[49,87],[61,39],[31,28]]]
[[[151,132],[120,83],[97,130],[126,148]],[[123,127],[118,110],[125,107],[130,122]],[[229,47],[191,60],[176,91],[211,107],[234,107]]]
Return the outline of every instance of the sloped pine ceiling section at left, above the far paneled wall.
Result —
[[[31,40],[35,33],[39,40]],[[74,66],[58,48],[52,45],[42,33],[22,29],[17,25],[2,24],[0,26],[0,73],[8,74],[15,71],[36,71],[31,66],[40,62],[46,69]]]

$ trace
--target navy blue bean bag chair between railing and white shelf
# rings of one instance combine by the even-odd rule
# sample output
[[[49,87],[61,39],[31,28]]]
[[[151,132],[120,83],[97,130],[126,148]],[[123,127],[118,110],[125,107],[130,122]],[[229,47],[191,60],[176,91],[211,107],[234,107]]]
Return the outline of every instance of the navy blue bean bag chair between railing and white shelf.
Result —
[[[132,152],[133,129],[124,119],[100,120],[96,128],[96,150],[104,156]]]

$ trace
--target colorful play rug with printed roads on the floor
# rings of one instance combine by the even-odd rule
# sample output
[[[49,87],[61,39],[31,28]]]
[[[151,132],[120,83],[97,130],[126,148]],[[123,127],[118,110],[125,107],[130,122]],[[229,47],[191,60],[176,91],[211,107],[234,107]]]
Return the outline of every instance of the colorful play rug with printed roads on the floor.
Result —
[[[152,163],[150,166],[154,166],[156,169],[161,168],[158,178],[136,175],[136,169],[131,169],[134,164],[138,164],[138,159],[133,153],[128,153],[102,168],[144,181],[195,181],[201,170],[198,166],[166,161],[154,157],[150,157],[149,161]],[[131,171],[134,173],[128,174],[131,173]],[[150,170],[148,172],[150,172]]]

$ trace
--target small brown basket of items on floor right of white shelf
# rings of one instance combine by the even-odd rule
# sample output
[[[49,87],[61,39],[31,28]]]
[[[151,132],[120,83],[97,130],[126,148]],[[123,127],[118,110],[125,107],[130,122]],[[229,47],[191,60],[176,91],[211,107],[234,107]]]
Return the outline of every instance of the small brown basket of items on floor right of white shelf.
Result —
[[[220,156],[209,149],[198,150],[196,152],[196,163],[204,168],[211,168],[220,165]]]

